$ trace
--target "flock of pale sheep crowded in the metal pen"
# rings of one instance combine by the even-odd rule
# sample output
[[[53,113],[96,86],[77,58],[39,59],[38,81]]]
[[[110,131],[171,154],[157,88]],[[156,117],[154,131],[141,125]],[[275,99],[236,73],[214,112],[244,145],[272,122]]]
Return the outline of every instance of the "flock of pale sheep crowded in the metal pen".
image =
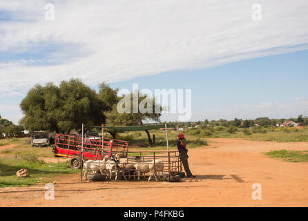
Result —
[[[160,172],[164,171],[164,162],[162,160],[142,160],[121,158],[117,153],[116,155],[111,155],[104,157],[103,160],[88,160],[84,162],[84,180],[88,180],[88,171],[100,171],[101,174],[106,175],[107,180],[111,180],[113,173],[115,173],[115,180],[119,173],[122,173],[124,180],[127,180],[126,173],[128,173],[128,178],[131,178],[131,172],[137,174],[137,180],[140,180],[140,176],[145,173],[150,173],[148,177],[148,182],[154,176],[155,180],[160,179]],[[134,175],[135,177],[135,175]]]

